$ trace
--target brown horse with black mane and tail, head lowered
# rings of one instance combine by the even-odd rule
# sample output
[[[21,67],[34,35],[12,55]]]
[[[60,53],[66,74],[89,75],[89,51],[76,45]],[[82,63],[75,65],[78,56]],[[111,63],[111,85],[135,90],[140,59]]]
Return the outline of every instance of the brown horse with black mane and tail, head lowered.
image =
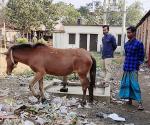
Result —
[[[83,99],[86,102],[86,91],[89,89],[89,101],[93,102],[93,88],[95,87],[96,61],[84,49],[56,49],[44,44],[14,45],[6,53],[7,71],[11,74],[18,62],[28,65],[35,73],[29,88],[33,96],[45,100],[43,89],[43,77],[45,74],[67,76],[76,72],[80,78]],[[90,82],[88,80],[90,75]],[[33,86],[39,82],[40,95],[36,94]]]

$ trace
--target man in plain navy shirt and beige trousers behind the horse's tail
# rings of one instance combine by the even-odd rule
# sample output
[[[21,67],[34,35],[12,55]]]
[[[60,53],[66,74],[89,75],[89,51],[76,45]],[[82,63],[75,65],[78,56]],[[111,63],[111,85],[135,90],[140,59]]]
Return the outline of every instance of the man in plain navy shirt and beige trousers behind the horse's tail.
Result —
[[[109,85],[111,79],[111,65],[112,58],[114,57],[114,51],[117,48],[116,38],[109,33],[109,26],[103,26],[103,38],[102,38],[102,59],[103,59],[103,70],[105,72],[105,78],[103,84]]]

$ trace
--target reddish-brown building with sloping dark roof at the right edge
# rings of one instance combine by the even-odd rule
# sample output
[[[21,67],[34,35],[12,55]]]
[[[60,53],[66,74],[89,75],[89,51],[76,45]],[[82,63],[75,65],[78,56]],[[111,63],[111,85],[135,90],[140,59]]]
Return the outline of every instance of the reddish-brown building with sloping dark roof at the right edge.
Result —
[[[137,38],[144,44],[146,59],[150,65],[150,10],[137,24]]]

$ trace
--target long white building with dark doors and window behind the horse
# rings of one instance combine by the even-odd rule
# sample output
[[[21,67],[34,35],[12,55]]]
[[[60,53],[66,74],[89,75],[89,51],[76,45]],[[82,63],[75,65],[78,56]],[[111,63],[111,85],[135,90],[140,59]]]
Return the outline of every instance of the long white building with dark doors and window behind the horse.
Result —
[[[60,29],[60,30],[58,30]],[[110,33],[121,48],[121,26],[110,26]],[[56,48],[84,48],[88,51],[100,51],[102,44],[102,25],[65,25],[58,24],[53,33],[53,46]]]

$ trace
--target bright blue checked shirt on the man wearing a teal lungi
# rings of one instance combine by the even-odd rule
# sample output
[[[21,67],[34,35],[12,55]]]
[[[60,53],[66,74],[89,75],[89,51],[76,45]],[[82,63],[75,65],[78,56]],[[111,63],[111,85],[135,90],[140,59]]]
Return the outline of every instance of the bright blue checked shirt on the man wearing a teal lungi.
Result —
[[[136,38],[125,43],[124,71],[138,71],[140,64],[144,61],[143,43]]]

